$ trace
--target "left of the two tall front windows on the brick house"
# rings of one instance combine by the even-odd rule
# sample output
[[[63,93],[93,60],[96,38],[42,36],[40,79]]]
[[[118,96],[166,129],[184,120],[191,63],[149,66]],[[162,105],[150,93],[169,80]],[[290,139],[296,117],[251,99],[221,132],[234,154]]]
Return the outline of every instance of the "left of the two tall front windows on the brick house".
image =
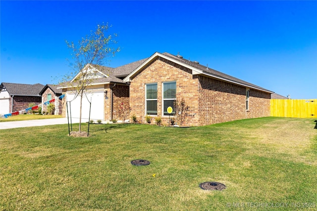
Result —
[[[158,115],[158,84],[146,84],[146,114]]]

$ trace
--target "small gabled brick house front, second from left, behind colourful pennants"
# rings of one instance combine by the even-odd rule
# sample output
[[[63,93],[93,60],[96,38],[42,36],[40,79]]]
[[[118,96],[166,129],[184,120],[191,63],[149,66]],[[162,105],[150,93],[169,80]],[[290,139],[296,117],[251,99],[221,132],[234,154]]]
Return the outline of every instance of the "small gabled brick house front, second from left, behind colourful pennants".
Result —
[[[42,112],[47,111],[47,106],[51,103],[55,106],[55,115],[61,115],[62,113],[62,99],[59,97],[62,95],[62,89],[57,88],[57,85],[46,84],[44,88],[40,91],[42,96]],[[52,102],[53,101],[53,102]]]

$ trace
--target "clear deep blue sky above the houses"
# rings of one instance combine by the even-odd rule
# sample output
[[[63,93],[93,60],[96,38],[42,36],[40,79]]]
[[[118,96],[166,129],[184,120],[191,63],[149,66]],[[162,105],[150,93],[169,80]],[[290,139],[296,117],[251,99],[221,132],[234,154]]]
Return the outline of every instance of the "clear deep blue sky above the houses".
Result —
[[[65,40],[112,25],[117,67],[179,52],[293,99],[317,98],[317,1],[0,1],[0,82],[55,84]]]

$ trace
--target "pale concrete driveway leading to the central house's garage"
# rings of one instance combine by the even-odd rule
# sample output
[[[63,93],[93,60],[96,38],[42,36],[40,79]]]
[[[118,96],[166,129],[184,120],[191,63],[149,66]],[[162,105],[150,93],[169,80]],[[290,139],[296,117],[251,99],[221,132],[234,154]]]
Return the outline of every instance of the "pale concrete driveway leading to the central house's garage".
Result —
[[[82,120],[84,123],[85,120]],[[67,118],[45,119],[45,120],[26,120],[14,122],[0,122],[0,129],[10,129],[17,127],[34,127],[67,124]],[[79,119],[72,118],[72,123],[79,123]]]

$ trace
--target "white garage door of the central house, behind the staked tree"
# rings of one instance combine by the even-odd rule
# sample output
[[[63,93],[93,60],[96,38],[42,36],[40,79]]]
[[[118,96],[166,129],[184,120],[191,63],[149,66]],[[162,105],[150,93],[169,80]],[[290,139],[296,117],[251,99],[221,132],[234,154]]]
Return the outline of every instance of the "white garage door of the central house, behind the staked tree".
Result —
[[[90,119],[91,120],[104,120],[104,89],[95,89],[93,92],[87,92],[87,97],[83,96],[82,101],[82,119],[88,120],[89,119],[89,106],[91,101],[91,113]],[[77,96],[74,99],[74,94],[72,92],[67,92],[66,99],[70,102],[70,106],[68,103],[68,111],[69,115],[71,112],[72,118],[79,118],[80,114],[80,96]],[[87,99],[88,98],[88,99]],[[74,100],[73,100],[74,99]],[[88,101],[89,100],[89,101]]]

